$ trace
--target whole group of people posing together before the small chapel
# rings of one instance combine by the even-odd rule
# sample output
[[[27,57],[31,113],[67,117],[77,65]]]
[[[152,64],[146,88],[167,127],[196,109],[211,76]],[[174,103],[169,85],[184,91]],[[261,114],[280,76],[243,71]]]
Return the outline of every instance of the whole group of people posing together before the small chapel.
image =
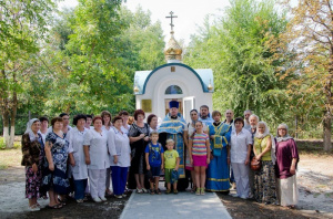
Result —
[[[65,206],[69,194],[77,202],[87,200],[87,194],[95,202],[107,201],[105,196],[112,195],[111,180],[117,198],[127,196],[127,187],[160,195],[162,173],[165,194],[188,188],[183,181],[191,178],[195,195],[228,195],[233,178],[240,198],[296,205],[299,154],[285,124],[279,125],[273,137],[251,111],[233,119],[228,109],[222,121],[219,111],[210,114],[202,105],[190,112],[186,124],[179,102],[171,101],[169,106],[161,124],[154,114],[145,123],[142,109],[134,112],[132,123],[125,111],[113,118],[108,111],[99,116],[79,114],[72,119],[74,127],[65,113],[52,118],[50,127],[47,117],[30,119],[22,135],[29,209],[40,210],[38,198],[47,196],[47,207],[52,209]],[[261,163],[259,170],[250,168],[252,159]]]

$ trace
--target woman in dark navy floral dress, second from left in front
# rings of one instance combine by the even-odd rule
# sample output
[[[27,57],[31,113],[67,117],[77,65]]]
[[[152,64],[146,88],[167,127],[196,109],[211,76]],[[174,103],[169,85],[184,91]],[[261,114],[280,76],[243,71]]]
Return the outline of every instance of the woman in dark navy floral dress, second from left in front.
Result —
[[[69,191],[69,179],[65,174],[69,142],[62,133],[62,118],[56,117],[51,121],[52,132],[46,137],[46,163],[43,168],[42,188],[49,191],[49,208],[61,208],[58,195]]]

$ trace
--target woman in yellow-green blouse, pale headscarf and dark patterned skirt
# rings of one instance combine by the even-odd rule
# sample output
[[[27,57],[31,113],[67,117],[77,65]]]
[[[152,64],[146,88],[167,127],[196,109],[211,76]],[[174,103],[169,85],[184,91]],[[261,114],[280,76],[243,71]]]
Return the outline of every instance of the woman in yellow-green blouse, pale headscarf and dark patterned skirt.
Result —
[[[275,142],[265,122],[259,122],[254,136],[253,152],[261,168],[254,177],[254,198],[258,202],[276,204]]]

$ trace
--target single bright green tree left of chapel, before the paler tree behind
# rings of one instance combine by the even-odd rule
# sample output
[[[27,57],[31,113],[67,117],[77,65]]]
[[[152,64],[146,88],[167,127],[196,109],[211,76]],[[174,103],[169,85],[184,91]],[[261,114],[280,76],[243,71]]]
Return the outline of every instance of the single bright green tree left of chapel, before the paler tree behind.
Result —
[[[46,55],[53,74],[49,113],[131,108],[132,90],[121,40],[128,22],[120,17],[121,0],[80,0],[73,13],[60,14]],[[49,62],[51,61],[51,63]]]

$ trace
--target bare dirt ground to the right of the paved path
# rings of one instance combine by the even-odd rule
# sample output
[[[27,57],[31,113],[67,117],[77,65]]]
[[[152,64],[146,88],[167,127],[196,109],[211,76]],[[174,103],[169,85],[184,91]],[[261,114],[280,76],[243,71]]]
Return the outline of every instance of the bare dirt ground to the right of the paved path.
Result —
[[[232,218],[333,218],[333,156],[301,154],[296,209],[219,195]],[[232,191],[235,192],[235,191]]]

